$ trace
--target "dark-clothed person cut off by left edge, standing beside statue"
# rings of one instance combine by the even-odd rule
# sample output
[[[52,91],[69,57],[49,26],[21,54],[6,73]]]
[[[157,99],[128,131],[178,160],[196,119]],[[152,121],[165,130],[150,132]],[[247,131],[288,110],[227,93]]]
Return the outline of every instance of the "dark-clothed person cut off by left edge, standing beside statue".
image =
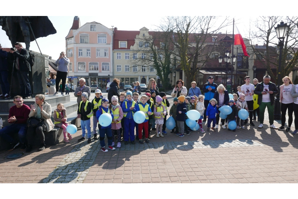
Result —
[[[7,66],[7,52],[2,50],[0,44],[0,84],[2,94],[0,98],[9,98],[9,83],[8,83],[8,66]]]

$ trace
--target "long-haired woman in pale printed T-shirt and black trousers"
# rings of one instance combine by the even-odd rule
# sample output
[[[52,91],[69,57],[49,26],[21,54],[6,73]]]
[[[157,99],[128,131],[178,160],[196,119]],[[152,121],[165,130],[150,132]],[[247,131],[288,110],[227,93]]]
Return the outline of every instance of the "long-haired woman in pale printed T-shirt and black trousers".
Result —
[[[293,122],[293,97],[291,96],[291,91],[293,89],[293,83],[289,76],[283,78],[283,85],[280,86],[280,109],[281,109],[281,127],[278,128],[279,131],[285,129],[285,115],[288,109],[288,127],[285,129],[286,132],[291,131],[291,125]]]

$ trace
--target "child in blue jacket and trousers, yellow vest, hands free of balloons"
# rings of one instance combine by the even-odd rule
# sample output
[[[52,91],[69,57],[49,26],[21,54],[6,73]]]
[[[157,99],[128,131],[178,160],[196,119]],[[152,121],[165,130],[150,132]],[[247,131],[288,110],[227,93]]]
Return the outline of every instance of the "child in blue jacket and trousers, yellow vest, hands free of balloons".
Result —
[[[124,118],[124,144],[128,144],[128,140],[131,140],[131,144],[136,144],[134,141],[134,113],[136,112],[136,102],[132,99],[131,91],[127,91],[126,99],[122,104],[123,118]]]

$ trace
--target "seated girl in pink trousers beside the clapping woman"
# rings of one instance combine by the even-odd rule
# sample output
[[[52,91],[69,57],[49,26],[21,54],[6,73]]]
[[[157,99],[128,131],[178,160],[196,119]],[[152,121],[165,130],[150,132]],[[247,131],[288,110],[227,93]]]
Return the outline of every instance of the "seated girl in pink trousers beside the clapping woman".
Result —
[[[59,127],[63,129],[63,136],[64,139],[63,141],[68,143],[69,140],[72,140],[71,134],[66,135],[66,128],[69,125],[66,120],[67,120],[67,115],[66,115],[66,109],[64,108],[64,105],[62,103],[57,105],[57,109],[54,110],[54,124],[55,127]],[[68,139],[67,139],[68,136]]]

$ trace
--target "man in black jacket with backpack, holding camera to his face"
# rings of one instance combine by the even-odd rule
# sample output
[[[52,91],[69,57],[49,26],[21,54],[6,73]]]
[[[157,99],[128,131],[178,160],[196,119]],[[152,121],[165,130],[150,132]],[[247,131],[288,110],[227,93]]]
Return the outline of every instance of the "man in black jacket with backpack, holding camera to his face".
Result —
[[[23,99],[31,98],[31,87],[29,82],[29,71],[31,71],[29,63],[29,52],[23,48],[22,44],[15,43],[15,48],[10,48],[10,53],[16,57],[15,68],[17,69],[17,76],[21,85],[21,94]]]

